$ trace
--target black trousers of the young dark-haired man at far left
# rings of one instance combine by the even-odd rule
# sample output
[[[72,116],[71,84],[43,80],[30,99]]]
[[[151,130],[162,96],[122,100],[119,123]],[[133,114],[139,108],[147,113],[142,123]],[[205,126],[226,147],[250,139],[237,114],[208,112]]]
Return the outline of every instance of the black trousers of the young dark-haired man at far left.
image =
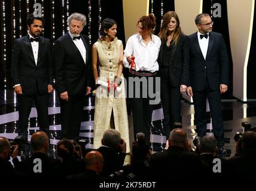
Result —
[[[31,113],[31,107],[35,101],[35,107],[38,115],[38,125],[40,131],[45,131],[49,135],[48,123],[48,93],[39,95],[35,92],[32,96],[19,95],[19,135],[23,135],[28,140],[28,119]]]

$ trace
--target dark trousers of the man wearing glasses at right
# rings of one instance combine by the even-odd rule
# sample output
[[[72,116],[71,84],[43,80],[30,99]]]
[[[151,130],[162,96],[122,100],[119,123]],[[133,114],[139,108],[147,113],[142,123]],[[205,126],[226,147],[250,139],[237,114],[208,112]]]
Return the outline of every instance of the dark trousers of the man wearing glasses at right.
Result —
[[[193,90],[193,87],[192,87],[192,90]],[[205,85],[205,89],[203,91],[193,90],[195,124],[196,124],[197,134],[200,137],[203,137],[206,135],[206,127],[207,127],[206,98],[208,98],[208,101],[209,101],[214,137],[217,139],[218,146],[224,146],[224,127],[223,127],[223,116],[221,113],[220,90],[210,90],[207,82]]]

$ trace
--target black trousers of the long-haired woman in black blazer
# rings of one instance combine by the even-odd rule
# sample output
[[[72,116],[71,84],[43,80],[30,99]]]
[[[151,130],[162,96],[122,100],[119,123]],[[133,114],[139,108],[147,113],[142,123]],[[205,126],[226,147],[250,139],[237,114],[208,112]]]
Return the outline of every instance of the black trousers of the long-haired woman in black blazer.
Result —
[[[163,67],[159,71],[161,78],[161,105],[163,107],[164,127],[166,139],[175,126],[175,122],[181,122],[181,93],[180,87],[173,87],[169,78],[169,67]]]

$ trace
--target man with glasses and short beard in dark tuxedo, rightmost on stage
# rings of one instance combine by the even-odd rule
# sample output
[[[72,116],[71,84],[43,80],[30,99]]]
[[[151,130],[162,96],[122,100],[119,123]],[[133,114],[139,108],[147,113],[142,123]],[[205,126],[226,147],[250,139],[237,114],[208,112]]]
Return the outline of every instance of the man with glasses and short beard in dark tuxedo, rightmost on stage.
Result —
[[[227,91],[228,85],[227,50],[223,36],[212,32],[213,21],[209,14],[199,14],[195,22],[199,30],[189,36],[190,85],[187,94],[193,96],[196,129],[200,137],[206,135],[208,98],[218,151],[224,153],[221,94]]]

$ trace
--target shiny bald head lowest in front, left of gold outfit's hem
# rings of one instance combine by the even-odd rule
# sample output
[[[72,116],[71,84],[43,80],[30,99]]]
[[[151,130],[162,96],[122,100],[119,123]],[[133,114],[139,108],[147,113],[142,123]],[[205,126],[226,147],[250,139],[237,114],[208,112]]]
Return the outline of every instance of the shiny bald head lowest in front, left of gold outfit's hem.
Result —
[[[87,153],[85,161],[87,170],[93,170],[95,172],[102,171],[104,159],[102,154],[97,150]]]

